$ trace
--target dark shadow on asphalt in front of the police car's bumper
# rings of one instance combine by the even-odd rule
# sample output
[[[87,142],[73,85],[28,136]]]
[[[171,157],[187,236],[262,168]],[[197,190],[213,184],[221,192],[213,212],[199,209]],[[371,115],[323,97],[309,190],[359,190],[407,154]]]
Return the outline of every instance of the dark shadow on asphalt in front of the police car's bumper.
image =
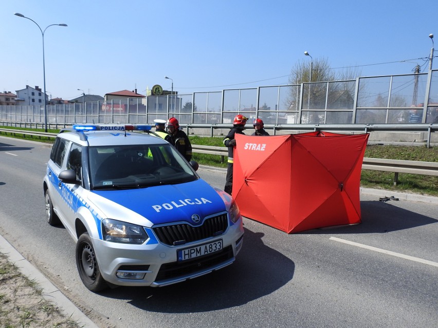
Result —
[[[239,306],[275,292],[294,276],[293,261],[262,242],[263,233],[245,229],[236,261],[212,274],[166,287],[121,287],[102,294],[128,299],[142,310],[196,313]]]

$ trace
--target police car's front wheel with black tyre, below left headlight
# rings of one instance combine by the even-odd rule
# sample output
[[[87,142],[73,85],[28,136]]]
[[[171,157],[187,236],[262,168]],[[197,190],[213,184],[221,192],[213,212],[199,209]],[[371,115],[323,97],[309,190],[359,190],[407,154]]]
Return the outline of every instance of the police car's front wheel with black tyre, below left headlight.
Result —
[[[96,253],[88,233],[82,234],[76,244],[76,265],[83,284],[90,291],[99,292],[108,287],[100,273]]]

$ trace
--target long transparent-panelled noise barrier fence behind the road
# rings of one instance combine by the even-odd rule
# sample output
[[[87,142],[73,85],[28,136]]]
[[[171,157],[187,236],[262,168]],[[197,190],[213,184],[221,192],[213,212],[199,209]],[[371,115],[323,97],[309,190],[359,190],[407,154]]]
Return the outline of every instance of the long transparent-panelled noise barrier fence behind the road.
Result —
[[[47,105],[47,123],[230,124],[238,113],[267,125],[438,123],[438,70],[356,80],[262,86]],[[45,122],[44,106],[0,106],[0,121]]]

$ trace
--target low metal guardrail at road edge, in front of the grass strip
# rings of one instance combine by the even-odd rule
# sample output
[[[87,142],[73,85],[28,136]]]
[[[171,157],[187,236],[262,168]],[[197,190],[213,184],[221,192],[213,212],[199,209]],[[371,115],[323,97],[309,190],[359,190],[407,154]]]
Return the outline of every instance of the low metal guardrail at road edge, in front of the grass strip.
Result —
[[[34,132],[28,130],[0,128],[0,132],[23,134],[23,136],[56,138],[57,133]],[[222,163],[228,156],[227,147],[192,145],[193,152],[221,156]],[[398,182],[398,173],[411,173],[426,176],[438,176],[438,162],[403,161],[379,158],[363,158],[362,169],[394,172],[394,185]]]

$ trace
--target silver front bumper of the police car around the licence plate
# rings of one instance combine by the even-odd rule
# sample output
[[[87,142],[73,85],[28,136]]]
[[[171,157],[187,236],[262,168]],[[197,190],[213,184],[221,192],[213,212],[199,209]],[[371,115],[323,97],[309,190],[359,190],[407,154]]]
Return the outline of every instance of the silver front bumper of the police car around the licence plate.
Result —
[[[193,279],[221,269],[234,262],[243,244],[242,218],[226,232],[180,246],[156,244],[120,244],[93,239],[102,277],[109,283],[122,286],[166,286]],[[222,239],[223,249],[187,261],[177,261],[177,250]],[[137,279],[120,278],[120,272],[133,272]],[[119,273],[119,276],[117,274]],[[143,276],[144,273],[144,276]],[[141,279],[138,279],[140,276]]]

